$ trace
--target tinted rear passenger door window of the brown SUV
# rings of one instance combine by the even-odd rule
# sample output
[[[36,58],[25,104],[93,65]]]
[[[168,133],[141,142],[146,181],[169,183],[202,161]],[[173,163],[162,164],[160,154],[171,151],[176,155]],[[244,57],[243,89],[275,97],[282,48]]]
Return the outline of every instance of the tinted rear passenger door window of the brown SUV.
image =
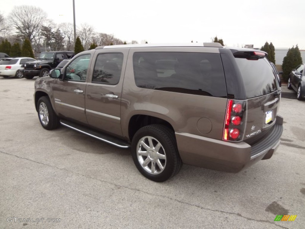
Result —
[[[93,83],[117,84],[120,81],[123,65],[122,53],[102,53],[96,58]]]

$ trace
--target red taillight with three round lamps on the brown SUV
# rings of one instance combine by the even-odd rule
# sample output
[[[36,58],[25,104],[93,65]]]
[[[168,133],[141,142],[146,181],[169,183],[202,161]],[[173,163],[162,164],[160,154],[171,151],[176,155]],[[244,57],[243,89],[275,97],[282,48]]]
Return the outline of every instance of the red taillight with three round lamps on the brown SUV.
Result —
[[[224,120],[223,140],[239,141],[245,127],[245,109],[246,101],[244,100],[228,100],[226,116]]]

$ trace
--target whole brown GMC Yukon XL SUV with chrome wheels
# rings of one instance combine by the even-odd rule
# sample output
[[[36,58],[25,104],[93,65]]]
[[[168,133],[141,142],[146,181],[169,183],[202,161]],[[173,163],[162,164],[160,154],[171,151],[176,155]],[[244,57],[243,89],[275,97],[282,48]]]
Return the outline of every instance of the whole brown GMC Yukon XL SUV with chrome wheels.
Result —
[[[218,43],[100,46],[38,78],[35,106],[45,129],[131,147],[154,181],[182,162],[238,172],[280,144],[281,88],[266,56]]]

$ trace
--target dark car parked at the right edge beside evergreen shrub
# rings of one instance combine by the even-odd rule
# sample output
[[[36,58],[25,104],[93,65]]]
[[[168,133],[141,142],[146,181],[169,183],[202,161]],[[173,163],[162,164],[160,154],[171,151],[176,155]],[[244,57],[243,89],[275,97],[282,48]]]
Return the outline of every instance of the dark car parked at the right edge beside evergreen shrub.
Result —
[[[296,91],[296,97],[298,100],[304,100],[305,98],[304,64],[299,65],[290,72],[287,87],[288,89],[293,89]]]

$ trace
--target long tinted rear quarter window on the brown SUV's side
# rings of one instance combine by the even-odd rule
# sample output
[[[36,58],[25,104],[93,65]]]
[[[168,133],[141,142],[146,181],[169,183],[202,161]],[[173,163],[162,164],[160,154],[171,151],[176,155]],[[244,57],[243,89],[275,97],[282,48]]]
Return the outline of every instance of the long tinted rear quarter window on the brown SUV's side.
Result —
[[[218,53],[138,52],[133,67],[141,88],[227,97]]]

